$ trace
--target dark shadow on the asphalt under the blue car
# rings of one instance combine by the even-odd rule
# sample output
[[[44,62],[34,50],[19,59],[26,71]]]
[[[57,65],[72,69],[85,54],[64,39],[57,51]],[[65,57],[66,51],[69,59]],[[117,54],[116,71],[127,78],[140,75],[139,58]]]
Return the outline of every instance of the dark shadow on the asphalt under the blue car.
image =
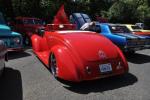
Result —
[[[129,62],[135,63],[135,64],[143,64],[143,63],[150,62],[150,56],[145,55],[145,54],[135,53],[133,55],[129,55],[126,57]]]

